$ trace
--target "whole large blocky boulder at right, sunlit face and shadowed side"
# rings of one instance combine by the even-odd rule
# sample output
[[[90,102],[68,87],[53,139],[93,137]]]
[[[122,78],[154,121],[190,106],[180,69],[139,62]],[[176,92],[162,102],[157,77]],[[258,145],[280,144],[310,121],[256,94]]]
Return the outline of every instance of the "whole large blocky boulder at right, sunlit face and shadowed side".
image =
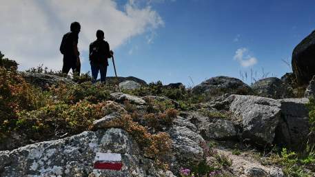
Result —
[[[238,136],[243,140],[259,147],[278,144],[302,149],[305,145],[310,126],[305,106],[307,98],[274,100],[259,96],[231,95],[223,102],[229,103],[229,110],[240,118]],[[216,128],[218,127],[220,126],[217,125]]]

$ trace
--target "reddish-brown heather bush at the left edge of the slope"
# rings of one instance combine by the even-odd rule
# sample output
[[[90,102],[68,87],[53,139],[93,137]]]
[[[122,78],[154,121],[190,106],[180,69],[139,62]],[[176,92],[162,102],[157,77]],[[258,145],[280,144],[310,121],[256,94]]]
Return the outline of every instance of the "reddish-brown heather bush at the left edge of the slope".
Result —
[[[0,67],[0,123],[6,121],[10,127],[11,121],[17,118],[22,110],[37,110],[50,102],[47,92],[26,83],[15,70]],[[2,127],[3,128],[3,127]]]

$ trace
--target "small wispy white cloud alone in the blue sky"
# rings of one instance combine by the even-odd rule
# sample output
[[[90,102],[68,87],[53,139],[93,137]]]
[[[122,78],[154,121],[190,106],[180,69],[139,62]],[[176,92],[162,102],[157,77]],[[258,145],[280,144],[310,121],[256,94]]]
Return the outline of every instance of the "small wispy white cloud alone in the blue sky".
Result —
[[[236,50],[234,60],[238,61],[243,67],[255,65],[258,60],[254,56],[250,56],[247,48],[239,48]]]

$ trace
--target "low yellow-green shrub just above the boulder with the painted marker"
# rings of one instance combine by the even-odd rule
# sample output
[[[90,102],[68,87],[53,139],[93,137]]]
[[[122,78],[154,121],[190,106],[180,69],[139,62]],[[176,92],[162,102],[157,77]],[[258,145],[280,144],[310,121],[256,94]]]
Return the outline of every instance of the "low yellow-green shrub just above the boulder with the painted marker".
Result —
[[[79,134],[88,130],[93,121],[102,118],[105,103],[91,104],[79,101],[74,105],[57,103],[18,114],[16,129],[26,132],[28,138],[44,140],[61,134]]]

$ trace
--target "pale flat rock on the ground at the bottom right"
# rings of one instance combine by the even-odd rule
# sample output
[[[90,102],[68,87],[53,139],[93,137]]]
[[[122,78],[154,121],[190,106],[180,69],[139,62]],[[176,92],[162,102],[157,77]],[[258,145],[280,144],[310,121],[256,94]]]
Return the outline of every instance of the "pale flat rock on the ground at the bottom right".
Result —
[[[232,161],[230,169],[235,176],[239,177],[284,177],[283,171],[279,167],[264,166],[257,160],[245,154],[234,155],[227,149],[216,149],[216,152],[226,156]]]

